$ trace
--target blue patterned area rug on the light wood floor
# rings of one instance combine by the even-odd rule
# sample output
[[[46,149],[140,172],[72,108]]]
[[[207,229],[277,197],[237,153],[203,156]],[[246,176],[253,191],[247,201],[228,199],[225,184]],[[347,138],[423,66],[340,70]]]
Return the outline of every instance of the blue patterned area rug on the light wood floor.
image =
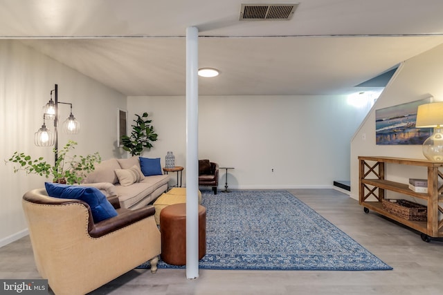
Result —
[[[202,204],[207,244],[201,269],[392,269],[288,191],[204,192]],[[159,268],[182,267],[160,260]]]

